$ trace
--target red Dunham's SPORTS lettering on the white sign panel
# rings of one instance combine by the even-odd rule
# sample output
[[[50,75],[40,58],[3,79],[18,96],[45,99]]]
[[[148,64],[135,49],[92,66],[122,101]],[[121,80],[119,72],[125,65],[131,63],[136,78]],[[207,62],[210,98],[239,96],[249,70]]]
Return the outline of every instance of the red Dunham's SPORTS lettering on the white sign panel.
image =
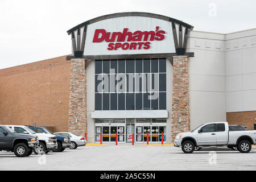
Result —
[[[160,41],[164,39],[165,31],[159,30],[159,26],[155,31],[140,31],[129,32],[128,28],[123,28],[123,32],[106,32],[105,29],[96,29],[94,32],[93,43],[100,43],[104,40],[110,42],[108,44],[108,50],[117,50],[119,48],[123,50],[127,49],[149,49],[150,42],[148,41]],[[115,39],[117,41],[115,43]],[[127,38],[127,40],[126,40]]]

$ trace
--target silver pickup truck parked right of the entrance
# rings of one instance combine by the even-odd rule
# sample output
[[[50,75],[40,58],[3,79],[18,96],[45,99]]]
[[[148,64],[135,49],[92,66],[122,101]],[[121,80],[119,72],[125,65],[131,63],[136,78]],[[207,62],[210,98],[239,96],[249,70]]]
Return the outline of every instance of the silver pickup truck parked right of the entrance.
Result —
[[[229,131],[228,122],[205,123],[195,130],[179,133],[174,140],[175,147],[184,153],[192,153],[195,147],[228,146],[237,147],[242,153],[250,152],[256,143],[256,130]]]

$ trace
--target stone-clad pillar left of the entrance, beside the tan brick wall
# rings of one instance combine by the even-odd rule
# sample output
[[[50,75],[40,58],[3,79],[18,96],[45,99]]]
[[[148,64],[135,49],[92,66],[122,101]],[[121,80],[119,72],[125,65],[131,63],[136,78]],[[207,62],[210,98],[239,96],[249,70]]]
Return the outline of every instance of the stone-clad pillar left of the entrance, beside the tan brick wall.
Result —
[[[84,136],[87,132],[86,69],[84,59],[71,60],[68,130]],[[77,119],[77,123],[76,123]]]

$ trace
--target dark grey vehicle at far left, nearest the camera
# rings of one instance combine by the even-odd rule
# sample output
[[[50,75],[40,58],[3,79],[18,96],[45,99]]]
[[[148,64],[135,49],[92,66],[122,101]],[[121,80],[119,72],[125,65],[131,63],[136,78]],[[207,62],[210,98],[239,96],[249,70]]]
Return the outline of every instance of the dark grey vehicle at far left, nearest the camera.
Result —
[[[11,151],[18,157],[30,156],[38,145],[34,135],[18,134],[7,126],[0,125],[0,151]]]

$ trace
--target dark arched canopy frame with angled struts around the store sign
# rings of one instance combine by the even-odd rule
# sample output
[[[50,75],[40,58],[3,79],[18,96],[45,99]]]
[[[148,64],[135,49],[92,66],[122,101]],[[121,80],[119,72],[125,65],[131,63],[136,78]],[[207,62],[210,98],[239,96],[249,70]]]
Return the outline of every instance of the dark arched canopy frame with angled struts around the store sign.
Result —
[[[129,58],[130,56],[136,56],[136,55],[98,55],[98,56],[84,56],[84,48],[85,48],[85,39],[86,39],[86,31],[88,24],[92,24],[95,22],[99,22],[101,20],[105,19],[112,19],[112,18],[118,18],[118,17],[124,17],[124,16],[144,16],[149,18],[157,18],[166,20],[168,22],[172,23],[172,32],[174,35],[174,44],[175,44],[175,53],[161,53],[161,54],[147,54],[147,55],[137,55],[137,56],[150,56],[150,57],[163,57],[163,56],[176,56],[176,55],[187,55],[190,57],[193,57],[193,52],[185,52],[185,49],[187,47],[187,41],[188,41],[188,31],[193,30],[193,26],[190,24],[184,23],[180,20],[170,18],[168,16],[163,16],[159,14],[152,14],[152,13],[142,13],[142,12],[127,12],[127,13],[115,13],[115,14],[109,14],[104,16],[99,16],[94,19],[90,19],[84,23],[81,23],[70,30],[68,30],[68,35],[71,35],[72,37],[72,49],[73,49],[73,56],[67,56],[67,60],[76,59],[76,58],[82,58],[82,59],[114,59],[116,57],[123,57],[123,58]],[[184,31],[184,34],[183,34]],[[143,58],[141,57],[141,58]]]

